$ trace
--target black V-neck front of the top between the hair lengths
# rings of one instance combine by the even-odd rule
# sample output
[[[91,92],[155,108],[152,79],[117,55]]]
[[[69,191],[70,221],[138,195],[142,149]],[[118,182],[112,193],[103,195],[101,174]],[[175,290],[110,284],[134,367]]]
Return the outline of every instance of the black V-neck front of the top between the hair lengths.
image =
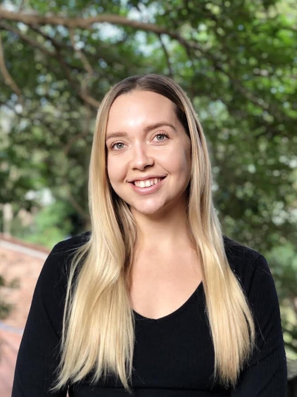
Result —
[[[213,384],[215,357],[203,288],[173,316],[158,320],[136,316],[135,337],[133,396],[230,396],[216,382]],[[69,396],[126,395],[114,376],[100,380],[94,391],[87,385],[81,387],[85,394],[77,390]]]

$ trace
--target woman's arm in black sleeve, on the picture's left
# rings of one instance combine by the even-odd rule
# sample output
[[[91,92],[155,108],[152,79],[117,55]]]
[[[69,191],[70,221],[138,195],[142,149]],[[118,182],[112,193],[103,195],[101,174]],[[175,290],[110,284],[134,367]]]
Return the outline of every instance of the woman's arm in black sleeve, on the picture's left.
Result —
[[[58,243],[40,272],[17,355],[11,397],[65,397],[67,388],[50,393],[59,358],[64,295],[63,263]]]

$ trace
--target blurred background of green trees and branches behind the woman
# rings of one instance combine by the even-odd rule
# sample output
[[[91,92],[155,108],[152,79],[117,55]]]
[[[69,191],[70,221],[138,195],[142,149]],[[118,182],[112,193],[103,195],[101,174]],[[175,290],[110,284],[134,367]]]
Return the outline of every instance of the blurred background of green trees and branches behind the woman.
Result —
[[[146,73],[188,94],[223,233],[268,261],[297,395],[296,50],[295,0],[0,2],[1,396],[45,258],[90,229],[100,101]]]

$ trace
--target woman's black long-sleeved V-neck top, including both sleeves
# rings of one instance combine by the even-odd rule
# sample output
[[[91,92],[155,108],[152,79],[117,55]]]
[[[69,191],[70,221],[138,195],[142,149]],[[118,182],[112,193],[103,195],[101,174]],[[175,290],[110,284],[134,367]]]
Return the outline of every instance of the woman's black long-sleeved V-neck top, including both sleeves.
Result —
[[[21,340],[12,397],[65,397],[66,389],[48,392],[57,365],[69,249],[79,246],[90,232],[57,243],[38,278]],[[214,351],[205,311],[203,283],[171,314],[150,319],[134,311],[136,343],[132,387],[136,397],[284,397],[287,363],[280,309],[274,280],[259,252],[224,236],[233,272],[253,310],[257,346],[236,389],[213,385]],[[66,252],[67,251],[67,252]],[[84,382],[69,386],[69,397],[124,396],[120,380],[109,376],[90,387]]]

